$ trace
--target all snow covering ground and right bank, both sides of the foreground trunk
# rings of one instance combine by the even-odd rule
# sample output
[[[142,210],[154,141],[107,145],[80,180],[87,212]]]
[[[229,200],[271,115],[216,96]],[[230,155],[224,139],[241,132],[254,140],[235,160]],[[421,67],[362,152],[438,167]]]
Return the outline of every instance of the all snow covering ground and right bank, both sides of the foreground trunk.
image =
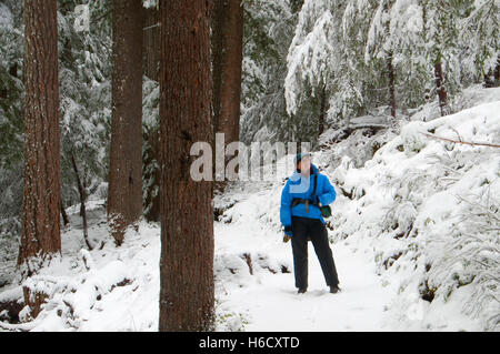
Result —
[[[500,97],[496,90],[488,94]],[[313,154],[338,194],[328,222],[338,294],[328,293],[312,245],[309,291],[296,293],[291,244],[279,223],[291,170],[230,184],[213,201],[217,330],[498,331],[500,153],[422,134],[498,143],[500,100],[492,101],[428,122],[410,119],[400,134],[353,133],[351,146],[342,141]],[[361,158],[352,158],[356,150]],[[291,160],[278,164],[290,168]],[[157,331],[159,225],[140,222],[117,249],[102,201],[88,210],[96,249],[86,251],[78,206],[69,208],[62,259],[24,283],[47,293],[47,304],[34,321],[24,310],[21,324],[0,328]],[[3,287],[0,302],[20,294]]]

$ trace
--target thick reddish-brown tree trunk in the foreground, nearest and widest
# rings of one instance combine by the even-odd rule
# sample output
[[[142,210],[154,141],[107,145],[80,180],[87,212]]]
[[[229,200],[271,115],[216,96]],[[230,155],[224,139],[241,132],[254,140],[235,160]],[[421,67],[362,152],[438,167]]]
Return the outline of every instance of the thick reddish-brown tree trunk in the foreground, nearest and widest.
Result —
[[[213,183],[190,178],[191,145],[213,134],[210,4],[160,0],[160,331],[213,322]]]

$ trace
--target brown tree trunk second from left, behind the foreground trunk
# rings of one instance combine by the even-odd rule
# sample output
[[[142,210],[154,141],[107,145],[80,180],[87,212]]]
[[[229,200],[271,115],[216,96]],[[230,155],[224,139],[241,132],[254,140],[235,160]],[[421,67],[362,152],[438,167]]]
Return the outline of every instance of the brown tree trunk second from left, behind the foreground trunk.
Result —
[[[142,1],[113,0],[108,220],[117,245],[142,213]]]

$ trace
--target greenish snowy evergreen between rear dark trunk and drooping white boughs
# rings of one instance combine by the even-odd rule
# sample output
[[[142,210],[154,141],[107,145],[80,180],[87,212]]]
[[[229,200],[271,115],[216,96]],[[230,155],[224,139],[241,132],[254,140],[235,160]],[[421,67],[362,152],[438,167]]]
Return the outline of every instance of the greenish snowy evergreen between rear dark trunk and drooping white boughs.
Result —
[[[300,1],[244,0],[243,6],[240,139],[284,141],[292,128],[284,101],[287,54]]]

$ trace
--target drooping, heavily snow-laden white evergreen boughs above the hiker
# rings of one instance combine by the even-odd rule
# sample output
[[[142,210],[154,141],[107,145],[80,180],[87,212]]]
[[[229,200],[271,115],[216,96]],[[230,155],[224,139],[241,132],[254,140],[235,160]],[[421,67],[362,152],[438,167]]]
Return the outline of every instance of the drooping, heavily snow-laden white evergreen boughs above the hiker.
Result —
[[[362,22],[369,10],[368,1],[304,1],[288,54],[286,97],[290,114],[317,122],[318,118],[312,121],[302,113],[301,105],[311,104],[307,111],[317,110],[314,117],[322,117],[318,108],[323,91],[330,121],[346,120],[349,125],[349,118],[362,112],[363,82],[370,78],[364,77],[364,64],[354,53],[364,47],[366,34],[360,29],[367,27]],[[353,20],[356,24],[350,22]]]

